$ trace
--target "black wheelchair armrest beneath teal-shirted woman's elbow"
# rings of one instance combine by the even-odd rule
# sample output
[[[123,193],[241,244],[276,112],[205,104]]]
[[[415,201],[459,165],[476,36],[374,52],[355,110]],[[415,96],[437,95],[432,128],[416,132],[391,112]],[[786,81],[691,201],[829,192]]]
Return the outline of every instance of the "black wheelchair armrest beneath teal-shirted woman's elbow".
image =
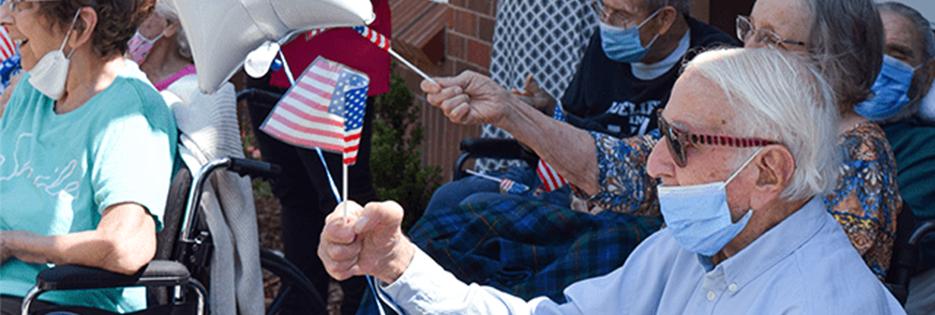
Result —
[[[186,284],[190,277],[184,265],[169,260],[154,260],[133,275],[77,265],[62,265],[40,272],[36,276],[36,287],[42,291],[133,286],[167,287]]]

